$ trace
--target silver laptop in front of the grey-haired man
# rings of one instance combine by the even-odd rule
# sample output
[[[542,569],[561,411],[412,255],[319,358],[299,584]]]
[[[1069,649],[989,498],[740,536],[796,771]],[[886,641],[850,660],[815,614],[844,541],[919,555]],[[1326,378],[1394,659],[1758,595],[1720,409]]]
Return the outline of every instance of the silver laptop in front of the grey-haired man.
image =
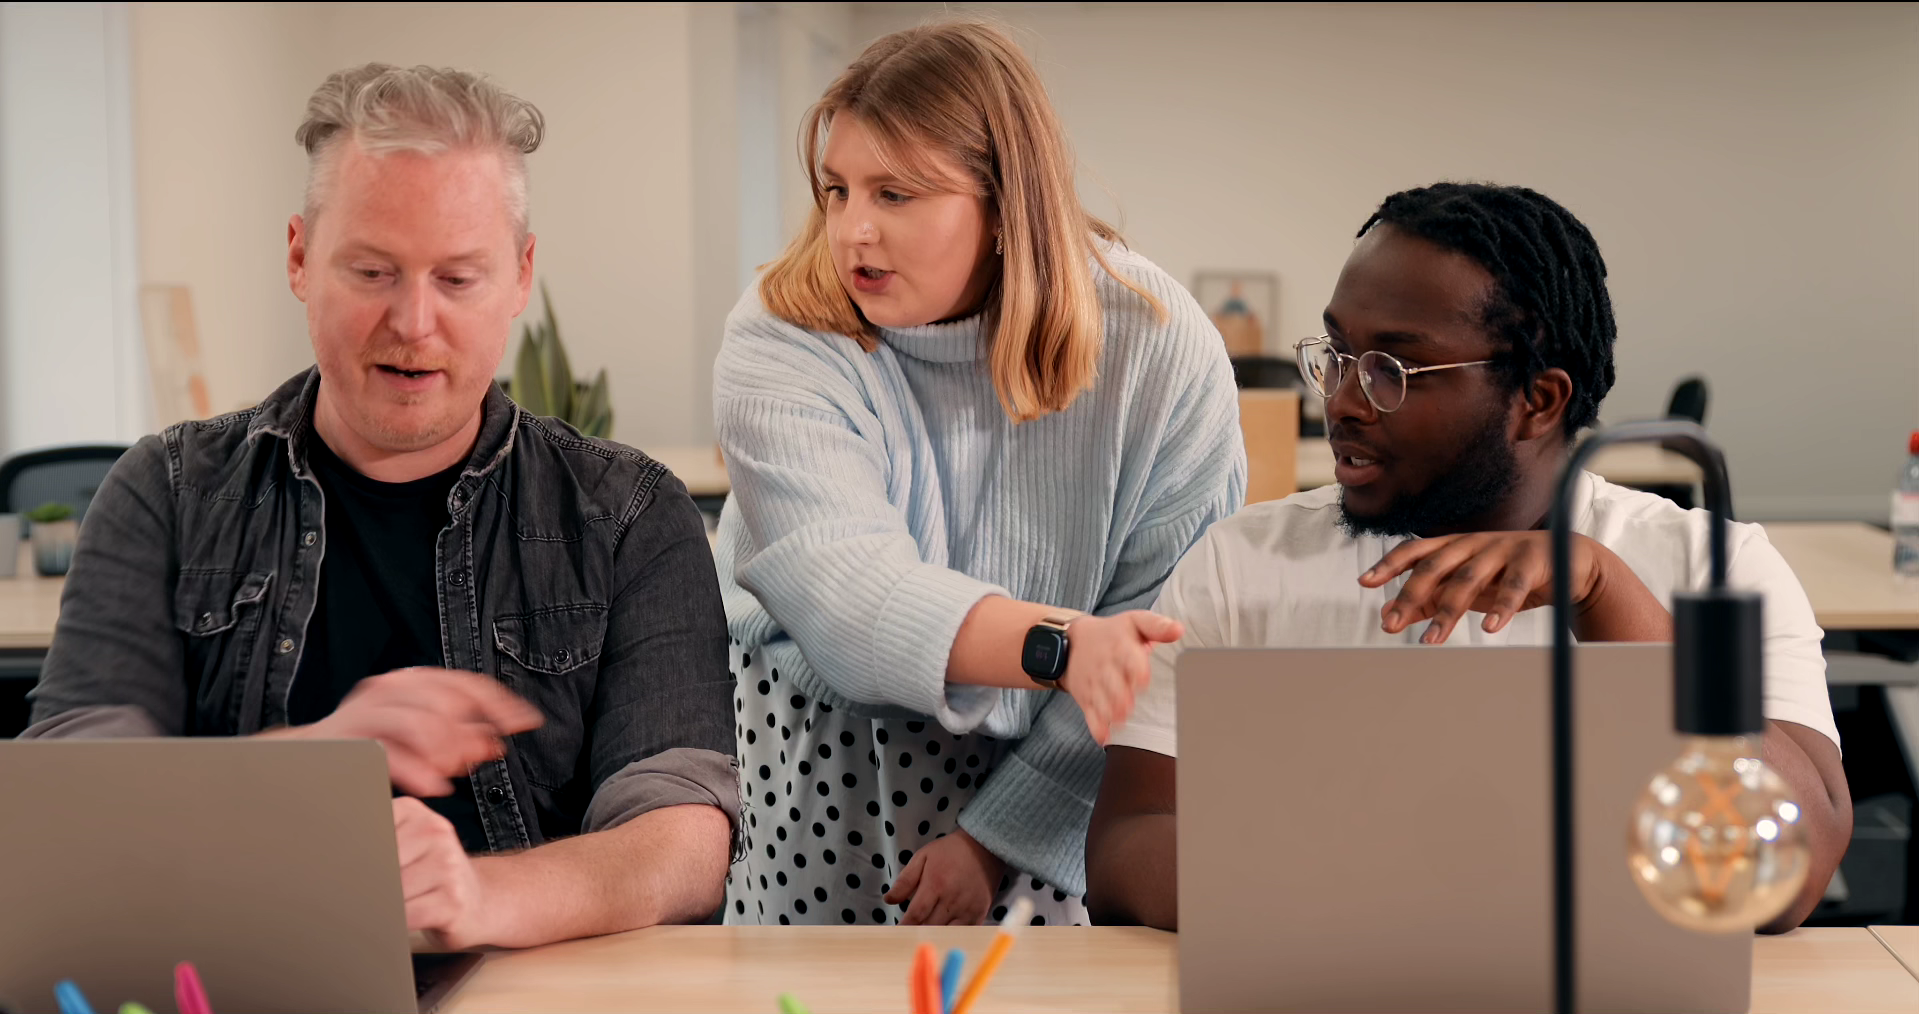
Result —
[[[0,1008],[430,1010],[478,954],[409,954],[372,741],[0,741]],[[418,966],[418,976],[416,976]]]

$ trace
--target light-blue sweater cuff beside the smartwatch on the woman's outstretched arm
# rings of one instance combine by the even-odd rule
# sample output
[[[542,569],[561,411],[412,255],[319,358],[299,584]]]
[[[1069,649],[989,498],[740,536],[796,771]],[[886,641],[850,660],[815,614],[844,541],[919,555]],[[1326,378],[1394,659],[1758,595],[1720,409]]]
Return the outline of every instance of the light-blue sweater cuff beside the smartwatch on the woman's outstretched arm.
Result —
[[[873,672],[894,680],[894,701],[935,716],[956,736],[984,722],[1000,705],[1000,689],[948,684],[946,661],[967,613],[981,599],[1006,593],[931,563],[908,570],[873,622]]]

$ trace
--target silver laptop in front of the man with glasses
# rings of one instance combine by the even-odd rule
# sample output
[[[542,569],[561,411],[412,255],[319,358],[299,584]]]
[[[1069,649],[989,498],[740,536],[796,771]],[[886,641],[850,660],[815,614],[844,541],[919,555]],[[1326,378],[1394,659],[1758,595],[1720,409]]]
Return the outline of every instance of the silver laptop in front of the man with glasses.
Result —
[[[1670,647],[1583,645],[1575,686],[1579,1010],[1744,1012],[1750,933],[1627,878]],[[1549,695],[1543,647],[1184,653],[1180,1008],[1551,1010]]]

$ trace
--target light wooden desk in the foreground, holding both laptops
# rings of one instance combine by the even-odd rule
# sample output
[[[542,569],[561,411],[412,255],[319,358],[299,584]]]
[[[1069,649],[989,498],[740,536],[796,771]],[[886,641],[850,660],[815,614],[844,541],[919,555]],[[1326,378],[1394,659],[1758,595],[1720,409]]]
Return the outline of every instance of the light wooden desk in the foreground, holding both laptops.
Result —
[[[992,930],[674,926],[487,956],[443,1008],[754,1010],[793,993],[819,1014],[908,1010],[919,941],[977,964]],[[1034,928],[975,1010],[1178,1010],[1176,937],[1126,928]],[[1865,930],[1758,937],[1752,1014],[1913,1014],[1919,979]]]

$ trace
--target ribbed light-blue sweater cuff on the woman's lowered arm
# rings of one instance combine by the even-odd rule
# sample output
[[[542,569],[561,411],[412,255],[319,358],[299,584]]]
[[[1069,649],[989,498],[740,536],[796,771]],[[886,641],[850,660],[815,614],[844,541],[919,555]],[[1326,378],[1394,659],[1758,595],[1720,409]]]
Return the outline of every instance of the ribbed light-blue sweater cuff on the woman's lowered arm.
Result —
[[[1025,874],[1086,893],[1086,826],[1105,772],[1092,736],[1027,737],[960,810],[960,828]]]

